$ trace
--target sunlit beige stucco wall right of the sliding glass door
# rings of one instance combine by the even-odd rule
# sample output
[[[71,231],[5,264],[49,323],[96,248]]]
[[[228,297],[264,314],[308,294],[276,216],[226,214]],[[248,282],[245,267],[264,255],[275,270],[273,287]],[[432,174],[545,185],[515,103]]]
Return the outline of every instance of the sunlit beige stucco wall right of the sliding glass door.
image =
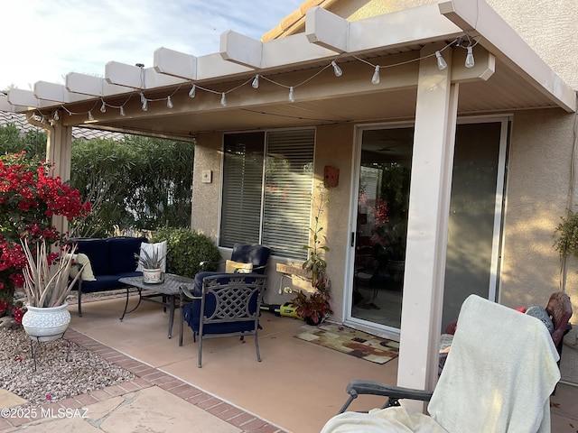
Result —
[[[553,235],[567,207],[573,118],[561,110],[514,115],[500,294],[500,301],[510,307],[545,303],[559,289]],[[568,290],[578,299],[572,284]]]

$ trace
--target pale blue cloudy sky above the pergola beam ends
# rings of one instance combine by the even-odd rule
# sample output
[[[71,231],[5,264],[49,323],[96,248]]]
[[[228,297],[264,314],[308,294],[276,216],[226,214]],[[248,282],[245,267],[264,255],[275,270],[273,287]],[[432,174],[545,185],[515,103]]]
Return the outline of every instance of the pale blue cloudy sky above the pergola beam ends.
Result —
[[[303,0],[1,0],[0,90],[64,84],[69,72],[104,77],[118,61],[153,67],[164,47],[219,52],[233,30],[259,40]]]

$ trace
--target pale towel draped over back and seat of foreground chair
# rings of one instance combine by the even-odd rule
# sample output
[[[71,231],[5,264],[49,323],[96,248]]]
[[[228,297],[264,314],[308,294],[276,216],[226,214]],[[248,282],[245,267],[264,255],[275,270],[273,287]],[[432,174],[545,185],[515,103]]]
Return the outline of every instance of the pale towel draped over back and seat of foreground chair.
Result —
[[[471,295],[428,406],[431,418],[403,407],[345,412],[322,433],[546,433],[558,358],[539,319]]]

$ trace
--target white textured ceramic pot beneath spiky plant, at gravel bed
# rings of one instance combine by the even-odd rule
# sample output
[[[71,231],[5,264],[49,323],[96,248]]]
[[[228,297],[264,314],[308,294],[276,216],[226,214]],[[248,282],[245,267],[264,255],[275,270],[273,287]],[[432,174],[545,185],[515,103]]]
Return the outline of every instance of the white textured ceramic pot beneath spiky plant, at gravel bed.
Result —
[[[52,341],[64,335],[70,325],[68,302],[59,307],[30,307],[24,313],[22,326],[37,341]]]

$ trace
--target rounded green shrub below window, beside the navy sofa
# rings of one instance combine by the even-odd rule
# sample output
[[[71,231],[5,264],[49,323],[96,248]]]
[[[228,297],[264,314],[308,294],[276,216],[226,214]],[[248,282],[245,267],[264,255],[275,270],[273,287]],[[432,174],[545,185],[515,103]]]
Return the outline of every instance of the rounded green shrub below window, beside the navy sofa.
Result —
[[[219,248],[210,237],[189,228],[163,227],[156,231],[151,242],[167,241],[166,272],[194,278],[200,263],[208,262],[203,271],[216,271],[221,259]]]

